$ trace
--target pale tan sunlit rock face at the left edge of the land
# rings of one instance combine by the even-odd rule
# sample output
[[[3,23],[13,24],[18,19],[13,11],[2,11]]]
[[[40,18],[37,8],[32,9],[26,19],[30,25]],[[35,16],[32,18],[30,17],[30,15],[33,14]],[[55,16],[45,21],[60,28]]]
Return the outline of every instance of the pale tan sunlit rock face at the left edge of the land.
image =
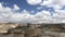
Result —
[[[0,33],[8,33],[8,29],[15,28],[18,24],[14,23],[0,23]]]

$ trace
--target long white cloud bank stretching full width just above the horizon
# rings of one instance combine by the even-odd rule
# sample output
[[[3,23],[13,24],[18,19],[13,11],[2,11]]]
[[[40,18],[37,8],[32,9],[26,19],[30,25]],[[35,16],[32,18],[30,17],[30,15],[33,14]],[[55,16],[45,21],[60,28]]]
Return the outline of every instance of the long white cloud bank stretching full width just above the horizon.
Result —
[[[60,8],[54,9],[53,15],[46,10],[37,12],[35,15],[31,15],[27,10],[20,13],[16,12],[17,10],[21,9],[16,4],[12,9],[0,3],[0,23],[65,23],[65,10],[60,10]]]

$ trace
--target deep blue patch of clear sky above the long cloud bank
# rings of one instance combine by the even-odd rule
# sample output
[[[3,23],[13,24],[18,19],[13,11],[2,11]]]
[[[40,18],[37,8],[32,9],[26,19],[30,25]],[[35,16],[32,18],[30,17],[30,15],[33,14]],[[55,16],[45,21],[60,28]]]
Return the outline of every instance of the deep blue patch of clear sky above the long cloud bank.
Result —
[[[47,11],[53,11],[52,8],[42,7],[42,9],[38,10],[37,8],[41,7],[40,4],[37,5],[30,5],[27,3],[26,0],[0,0],[0,2],[3,2],[4,7],[13,8],[13,4],[17,4],[20,7],[20,11],[27,10],[27,11],[34,11],[34,14],[36,14],[39,11],[47,10]],[[51,10],[49,10],[51,9]]]

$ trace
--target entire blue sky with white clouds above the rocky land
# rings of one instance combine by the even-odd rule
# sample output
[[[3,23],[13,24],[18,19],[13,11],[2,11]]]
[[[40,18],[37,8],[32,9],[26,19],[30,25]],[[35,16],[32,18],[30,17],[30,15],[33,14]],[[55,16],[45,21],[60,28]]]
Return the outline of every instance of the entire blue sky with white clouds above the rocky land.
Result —
[[[0,0],[0,23],[65,23],[65,0]]]

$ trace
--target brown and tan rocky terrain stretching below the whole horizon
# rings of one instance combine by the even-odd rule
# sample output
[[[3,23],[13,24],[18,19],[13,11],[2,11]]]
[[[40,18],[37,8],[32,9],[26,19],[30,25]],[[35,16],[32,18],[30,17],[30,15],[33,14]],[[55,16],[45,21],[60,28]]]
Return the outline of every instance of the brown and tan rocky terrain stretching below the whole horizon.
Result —
[[[0,23],[0,37],[65,37],[65,24]]]

